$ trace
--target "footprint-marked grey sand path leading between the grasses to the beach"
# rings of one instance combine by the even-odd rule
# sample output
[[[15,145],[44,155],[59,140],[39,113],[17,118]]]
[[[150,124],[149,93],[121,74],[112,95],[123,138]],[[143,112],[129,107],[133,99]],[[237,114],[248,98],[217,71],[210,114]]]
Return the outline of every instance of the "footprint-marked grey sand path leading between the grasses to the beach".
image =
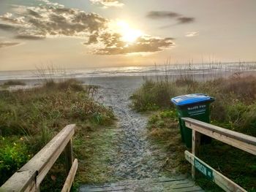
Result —
[[[99,96],[105,105],[113,107],[118,118],[116,158],[111,162],[114,175],[122,180],[159,177],[161,154],[146,139],[148,117],[133,111],[129,96],[141,85],[141,77],[109,77],[91,80],[100,85]]]

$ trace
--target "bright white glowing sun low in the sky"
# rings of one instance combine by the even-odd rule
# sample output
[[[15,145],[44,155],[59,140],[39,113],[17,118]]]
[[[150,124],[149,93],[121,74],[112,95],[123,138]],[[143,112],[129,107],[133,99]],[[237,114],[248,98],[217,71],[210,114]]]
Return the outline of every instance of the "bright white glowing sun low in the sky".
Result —
[[[139,37],[143,36],[142,31],[131,28],[124,20],[116,22],[116,31],[121,34],[121,40],[127,43],[135,42]]]

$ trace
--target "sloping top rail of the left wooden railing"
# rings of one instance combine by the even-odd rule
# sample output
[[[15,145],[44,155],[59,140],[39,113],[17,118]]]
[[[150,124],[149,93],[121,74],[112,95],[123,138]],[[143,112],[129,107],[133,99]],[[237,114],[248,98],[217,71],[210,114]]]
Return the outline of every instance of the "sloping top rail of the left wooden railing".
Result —
[[[30,191],[31,188],[37,189],[74,133],[75,125],[63,128],[29,162],[13,174],[1,186],[0,191]]]

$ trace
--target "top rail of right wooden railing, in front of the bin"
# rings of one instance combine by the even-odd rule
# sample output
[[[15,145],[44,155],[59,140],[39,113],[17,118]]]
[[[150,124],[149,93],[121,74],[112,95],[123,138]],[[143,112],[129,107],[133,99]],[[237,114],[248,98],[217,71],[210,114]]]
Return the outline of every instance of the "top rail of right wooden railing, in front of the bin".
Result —
[[[213,126],[209,123],[203,123],[200,120],[192,118],[183,118],[183,120],[186,121],[185,124],[188,128],[192,128],[201,134],[205,134],[221,142],[225,142],[228,145],[256,155],[256,137]]]

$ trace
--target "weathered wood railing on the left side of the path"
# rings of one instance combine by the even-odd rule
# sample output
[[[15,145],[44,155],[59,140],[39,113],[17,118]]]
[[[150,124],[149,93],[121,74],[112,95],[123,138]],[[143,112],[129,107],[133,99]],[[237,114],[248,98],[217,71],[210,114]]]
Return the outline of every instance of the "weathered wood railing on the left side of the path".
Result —
[[[1,186],[0,191],[39,191],[40,183],[63,150],[66,156],[68,176],[62,191],[69,191],[78,169],[78,160],[73,161],[72,156],[72,136],[74,133],[75,125],[63,128],[42,150],[34,155],[18,172],[15,172]]]

